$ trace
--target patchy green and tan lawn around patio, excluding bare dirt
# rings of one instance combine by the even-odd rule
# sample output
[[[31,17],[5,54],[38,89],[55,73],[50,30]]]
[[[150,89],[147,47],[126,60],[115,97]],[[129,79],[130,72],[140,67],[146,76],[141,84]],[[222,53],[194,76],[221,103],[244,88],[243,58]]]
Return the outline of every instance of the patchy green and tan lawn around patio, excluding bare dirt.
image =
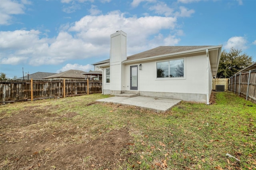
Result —
[[[87,156],[82,158],[81,167],[136,170],[256,169],[256,104],[250,101],[233,93],[219,92],[216,93],[216,102],[212,105],[181,102],[167,113],[157,114],[136,107],[94,102],[104,97],[109,96],[94,94],[2,105],[0,120],[33,108],[28,113],[33,113],[40,120],[47,119],[47,122],[31,121],[32,123],[17,129],[13,126],[2,126],[0,137],[1,134],[9,134],[8,140],[13,141],[15,138],[12,139],[10,134],[21,128],[24,133],[36,134],[41,130],[57,137],[56,129],[73,127],[76,133],[72,134],[72,140],[70,136],[61,138],[65,141],[65,146],[68,146],[86,144],[98,138],[99,134],[127,128],[131,140],[128,147],[124,147],[119,153],[124,156],[123,161],[114,165],[110,162],[104,166],[95,166],[90,164]],[[77,115],[72,118],[63,117],[67,113]],[[1,144],[7,140],[3,138],[0,141],[0,149]],[[19,141],[25,140],[20,138],[17,142]],[[44,149],[40,153],[52,155],[59,152],[61,147],[58,145],[51,152],[50,149]],[[226,156],[227,153],[240,161]],[[0,156],[0,168],[25,167],[18,165],[10,155]],[[37,169],[36,164],[39,163],[35,161],[32,169]]]

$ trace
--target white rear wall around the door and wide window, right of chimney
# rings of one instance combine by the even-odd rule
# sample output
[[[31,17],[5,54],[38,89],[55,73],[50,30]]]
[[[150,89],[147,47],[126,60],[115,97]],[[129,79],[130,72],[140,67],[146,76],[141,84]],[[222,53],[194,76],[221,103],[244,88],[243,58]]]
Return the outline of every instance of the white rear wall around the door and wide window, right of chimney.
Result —
[[[168,60],[141,63],[142,70],[138,70],[138,91],[140,91],[140,95],[184,98],[183,100],[186,101],[206,102],[206,55],[176,59],[181,58],[184,58],[185,63],[184,78],[156,78],[156,63]],[[126,65],[126,91],[130,91],[130,66],[139,64]],[[146,92],[155,93],[149,94]],[[193,96],[195,96],[195,100]]]

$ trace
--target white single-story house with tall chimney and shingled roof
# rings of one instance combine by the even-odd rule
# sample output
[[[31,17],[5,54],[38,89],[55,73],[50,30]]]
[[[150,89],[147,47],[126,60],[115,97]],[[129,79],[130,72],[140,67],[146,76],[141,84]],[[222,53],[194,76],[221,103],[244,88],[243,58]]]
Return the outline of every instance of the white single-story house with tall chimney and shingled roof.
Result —
[[[126,56],[123,31],[110,35],[110,59],[94,63],[102,70],[102,93],[136,93],[209,104],[222,45],[160,46]]]

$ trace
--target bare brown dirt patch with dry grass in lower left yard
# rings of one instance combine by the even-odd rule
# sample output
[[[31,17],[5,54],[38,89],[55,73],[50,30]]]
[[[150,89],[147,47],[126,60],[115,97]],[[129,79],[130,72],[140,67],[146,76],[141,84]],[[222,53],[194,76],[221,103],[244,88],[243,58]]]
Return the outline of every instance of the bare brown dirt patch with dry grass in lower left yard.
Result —
[[[122,150],[130,141],[127,128],[90,136],[86,126],[70,121],[78,113],[54,116],[47,110],[30,107],[8,117],[1,113],[0,169],[116,169],[126,160]]]

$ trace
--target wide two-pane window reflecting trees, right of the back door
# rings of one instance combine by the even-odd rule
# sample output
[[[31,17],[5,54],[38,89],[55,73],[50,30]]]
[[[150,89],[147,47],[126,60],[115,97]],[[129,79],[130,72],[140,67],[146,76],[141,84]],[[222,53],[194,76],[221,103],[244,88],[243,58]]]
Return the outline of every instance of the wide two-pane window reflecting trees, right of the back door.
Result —
[[[184,59],[156,63],[157,77],[184,77]]]

